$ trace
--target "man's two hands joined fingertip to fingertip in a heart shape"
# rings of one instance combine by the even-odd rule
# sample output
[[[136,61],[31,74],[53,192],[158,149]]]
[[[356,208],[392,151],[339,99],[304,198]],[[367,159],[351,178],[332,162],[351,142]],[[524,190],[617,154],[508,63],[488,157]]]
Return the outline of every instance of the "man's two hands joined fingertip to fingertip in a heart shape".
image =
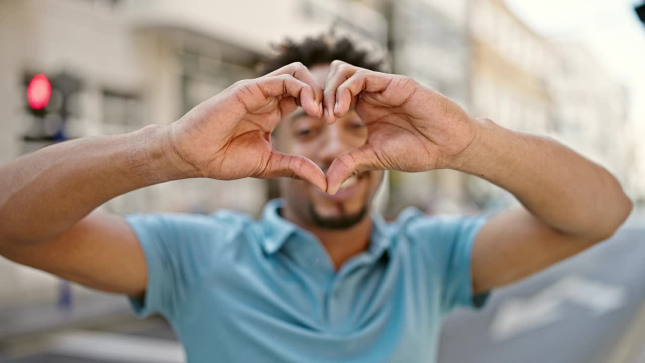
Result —
[[[327,175],[304,156],[273,149],[271,132],[299,105],[313,118],[333,123],[348,112],[352,99],[368,138],[338,156]],[[475,134],[475,119],[439,92],[405,76],[333,61],[324,92],[302,63],[236,82],[173,123],[169,144],[174,160],[181,160],[174,166],[190,176],[287,176],[335,194],[362,171],[455,167]]]

